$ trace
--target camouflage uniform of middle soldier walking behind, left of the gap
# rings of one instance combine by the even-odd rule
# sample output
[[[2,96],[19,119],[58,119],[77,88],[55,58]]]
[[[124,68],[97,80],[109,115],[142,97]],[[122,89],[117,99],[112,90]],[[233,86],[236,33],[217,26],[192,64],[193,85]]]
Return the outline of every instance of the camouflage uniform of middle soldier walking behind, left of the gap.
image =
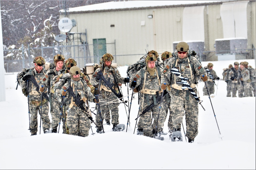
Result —
[[[108,53],[107,53],[108,54]],[[110,83],[114,83],[115,84],[115,81],[114,81],[114,76],[115,76],[115,79],[116,79],[116,82],[118,84],[115,84],[115,86],[113,87],[116,91],[118,90],[116,86],[119,86],[119,84],[125,84],[124,82],[124,77],[121,77],[119,71],[117,68],[114,68],[112,66],[110,67],[107,67],[107,66],[104,66],[104,63],[101,65],[100,68],[97,68],[95,70],[95,72],[93,73],[92,75],[92,80],[91,80],[91,84],[96,86],[99,84],[99,81],[96,80],[96,77],[97,77],[97,74],[99,71],[102,71],[105,79],[107,81],[109,81]],[[114,75],[112,74],[114,73]],[[112,101],[112,100],[115,100],[115,102],[118,102],[117,97],[116,95],[108,88],[108,86],[105,84],[105,82],[103,80],[100,80],[100,85],[101,87],[99,88],[100,90],[100,94],[99,94],[99,100],[100,100],[100,111],[101,111],[101,118],[102,118],[102,121],[104,120],[104,116],[105,116],[105,111],[106,110],[110,110],[110,113],[111,113],[111,123],[113,124],[113,126],[115,125],[118,125],[119,124],[119,103],[118,104],[105,104],[106,102],[109,102],[109,101]],[[118,91],[117,91],[118,93]],[[110,118],[110,115],[108,116],[107,119]],[[106,119],[105,119],[106,120]],[[100,116],[97,115],[97,125],[101,125],[101,121],[100,121]],[[98,131],[102,130],[102,127],[99,126],[98,128]]]

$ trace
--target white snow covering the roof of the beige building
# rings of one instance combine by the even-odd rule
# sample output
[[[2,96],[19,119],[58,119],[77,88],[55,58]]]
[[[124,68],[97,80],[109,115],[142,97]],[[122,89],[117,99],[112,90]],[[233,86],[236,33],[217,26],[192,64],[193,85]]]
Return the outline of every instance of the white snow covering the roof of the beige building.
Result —
[[[236,0],[229,0],[236,1]],[[146,8],[146,7],[161,7],[161,6],[172,6],[172,5],[187,5],[187,4],[204,4],[204,3],[216,3],[216,2],[228,2],[228,1],[110,1],[100,4],[86,5],[80,7],[69,8],[69,12],[79,12],[79,11],[99,11],[99,10],[114,10],[114,9],[129,9],[129,8]],[[64,10],[60,10],[64,12]]]

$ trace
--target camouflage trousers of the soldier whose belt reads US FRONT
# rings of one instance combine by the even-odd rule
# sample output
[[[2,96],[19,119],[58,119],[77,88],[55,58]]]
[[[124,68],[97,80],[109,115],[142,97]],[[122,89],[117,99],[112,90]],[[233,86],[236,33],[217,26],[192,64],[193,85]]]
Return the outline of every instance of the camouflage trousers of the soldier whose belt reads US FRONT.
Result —
[[[143,93],[140,93],[140,110],[139,110],[139,115],[142,114],[142,110],[145,110],[148,106],[150,106],[153,103],[153,95],[148,95],[149,101],[147,101],[147,97],[144,94],[144,101],[143,101]],[[142,108],[143,107],[143,108]],[[159,111],[159,107],[160,111]],[[152,117],[154,118],[153,124],[152,124]],[[159,113],[159,117],[158,117]],[[153,106],[150,110],[148,110],[145,114],[141,115],[138,121],[138,129],[143,129],[143,135],[144,136],[149,136],[152,137],[152,130],[155,129],[156,132],[159,132],[164,124],[166,117],[166,113],[163,108],[163,102],[160,106],[160,103],[158,105]],[[157,122],[158,118],[158,122]],[[156,126],[157,124],[157,126]]]

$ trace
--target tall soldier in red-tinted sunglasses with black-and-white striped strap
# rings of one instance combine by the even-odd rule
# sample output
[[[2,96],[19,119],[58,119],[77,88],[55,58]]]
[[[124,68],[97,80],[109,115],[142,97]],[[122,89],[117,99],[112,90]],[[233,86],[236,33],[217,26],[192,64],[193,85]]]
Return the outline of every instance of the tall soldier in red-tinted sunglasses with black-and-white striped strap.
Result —
[[[174,53],[174,56],[165,64],[161,75],[161,88],[162,90],[169,91],[172,98],[170,107],[173,109],[173,115],[171,118],[172,121],[168,121],[168,129],[172,141],[182,141],[180,129],[183,121],[182,117],[185,112],[187,124],[185,136],[188,137],[188,142],[194,142],[198,134],[198,102],[194,97],[195,94],[197,95],[197,77],[205,82],[207,81],[207,73],[202,67],[202,64],[194,56],[188,54],[189,46],[186,42],[179,42],[176,50],[177,53]],[[171,72],[172,68],[175,71],[177,69],[181,73],[181,76],[187,79],[186,82],[195,94],[192,94],[188,88],[183,88],[184,84],[181,82],[179,76]],[[170,85],[171,88],[167,88],[167,85]]]

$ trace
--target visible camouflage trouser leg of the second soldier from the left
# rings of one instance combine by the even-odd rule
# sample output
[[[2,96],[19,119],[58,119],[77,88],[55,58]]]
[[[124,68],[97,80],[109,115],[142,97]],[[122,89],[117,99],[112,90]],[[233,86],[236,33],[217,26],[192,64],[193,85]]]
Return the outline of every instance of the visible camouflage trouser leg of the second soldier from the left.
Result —
[[[50,111],[51,113],[51,128],[57,129],[60,123],[60,116],[61,116],[61,109],[60,109],[60,102],[54,98],[51,97],[51,103],[52,103],[52,109]]]

